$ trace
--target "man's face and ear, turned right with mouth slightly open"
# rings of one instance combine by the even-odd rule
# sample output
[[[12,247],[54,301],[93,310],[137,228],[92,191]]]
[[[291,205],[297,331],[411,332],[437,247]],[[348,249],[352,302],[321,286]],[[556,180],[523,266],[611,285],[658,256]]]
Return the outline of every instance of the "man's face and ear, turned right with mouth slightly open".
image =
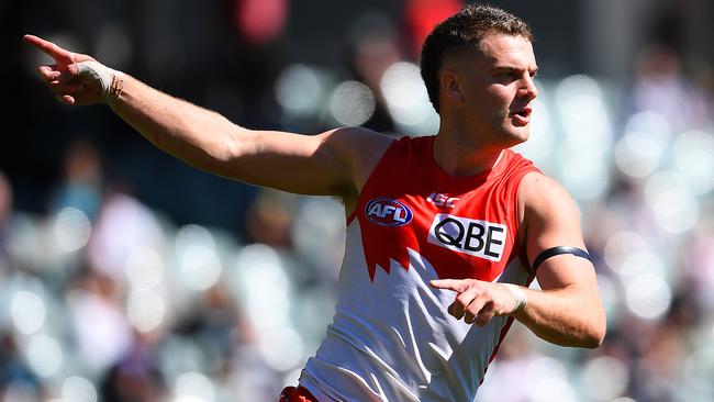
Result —
[[[454,82],[443,82],[450,85],[447,91],[455,97],[450,99],[455,118],[467,124],[481,146],[520,144],[528,139],[537,96],[533,45],[523,36],[490,34],[480,47],[481,52],[456,55],[451,59]]]

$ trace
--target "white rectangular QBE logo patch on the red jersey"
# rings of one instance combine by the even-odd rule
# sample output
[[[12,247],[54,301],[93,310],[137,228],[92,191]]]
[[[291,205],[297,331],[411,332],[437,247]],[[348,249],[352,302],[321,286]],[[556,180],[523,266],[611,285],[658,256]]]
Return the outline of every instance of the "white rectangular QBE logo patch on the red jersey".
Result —
[[[428,231],[428,243],[454,252],[500,261],[506,226],[439,213]]]

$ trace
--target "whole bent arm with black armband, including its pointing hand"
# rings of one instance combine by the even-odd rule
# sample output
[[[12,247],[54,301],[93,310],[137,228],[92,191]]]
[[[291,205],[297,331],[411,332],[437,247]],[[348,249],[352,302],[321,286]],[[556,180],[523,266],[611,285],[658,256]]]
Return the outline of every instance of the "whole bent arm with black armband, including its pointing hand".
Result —
[[[574,203],[554,180],[528,174],[518,190],[518,209],[528,261],[557,246],[584,249]],[[605,314],[592,264],[581,257],[558,255],[536,272],[542,290],[518,287],[525,308],[518,306],[513,284],[477,279],[442,279],[431,283],[456,291],[448,312],[457,320],[483,326],[493,316],[512,315],[540,338],[562,346],[598,347],[605,335]]]

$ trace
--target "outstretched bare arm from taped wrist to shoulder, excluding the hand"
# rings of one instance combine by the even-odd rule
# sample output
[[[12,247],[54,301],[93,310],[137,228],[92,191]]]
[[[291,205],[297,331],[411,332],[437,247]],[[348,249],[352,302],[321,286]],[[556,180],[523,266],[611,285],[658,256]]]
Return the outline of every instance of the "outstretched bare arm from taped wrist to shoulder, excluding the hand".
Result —
[[[366,176],[360,163],[389,142],[358,127],[319,135],[247,130],[129,76],[110,105],[148,141],[179,159],[213,174],[295,193],[354,196],[364,181],[359,178]]]

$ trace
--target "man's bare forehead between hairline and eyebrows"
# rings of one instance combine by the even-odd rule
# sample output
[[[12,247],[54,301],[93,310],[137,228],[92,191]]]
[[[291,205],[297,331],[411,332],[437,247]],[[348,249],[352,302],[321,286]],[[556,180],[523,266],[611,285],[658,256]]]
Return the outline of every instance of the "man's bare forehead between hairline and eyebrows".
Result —
[[[533,44],[523,36],[488,34],[479,44],[480,57],[492,65],[536,68]]]

